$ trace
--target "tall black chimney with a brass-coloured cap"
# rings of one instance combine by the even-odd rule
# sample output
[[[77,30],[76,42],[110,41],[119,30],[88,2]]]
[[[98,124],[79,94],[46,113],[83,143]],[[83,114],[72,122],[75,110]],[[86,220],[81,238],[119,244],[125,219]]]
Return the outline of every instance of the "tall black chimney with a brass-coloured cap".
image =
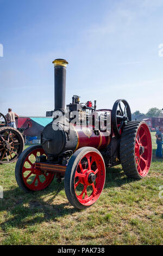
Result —
[[[65,111],[65,93],[66,93],[66,66],[68,62],[65,59],[55,59],[54,62],[54,99],[55,109]]]

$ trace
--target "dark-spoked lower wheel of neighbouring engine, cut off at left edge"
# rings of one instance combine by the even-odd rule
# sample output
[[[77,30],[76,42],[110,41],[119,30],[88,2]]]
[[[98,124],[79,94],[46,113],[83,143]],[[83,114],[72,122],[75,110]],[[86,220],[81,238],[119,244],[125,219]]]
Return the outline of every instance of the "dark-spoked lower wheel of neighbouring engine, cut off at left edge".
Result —
[[[0,163],[12,163],[17,160],[24,148],[21,133],[12,127],[0,128]]]

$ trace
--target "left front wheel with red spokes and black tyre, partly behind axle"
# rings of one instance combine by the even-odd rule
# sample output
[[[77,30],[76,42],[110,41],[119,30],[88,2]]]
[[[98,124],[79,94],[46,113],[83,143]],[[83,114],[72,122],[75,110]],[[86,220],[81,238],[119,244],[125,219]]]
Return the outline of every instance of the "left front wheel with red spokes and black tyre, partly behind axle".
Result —
[[[41,172],[35,167],[36,156],[46,155],[41,145],[34,145],[18,158],[15,166],[17,184],[26,192],[40,191],[51,184],[54,174]]]

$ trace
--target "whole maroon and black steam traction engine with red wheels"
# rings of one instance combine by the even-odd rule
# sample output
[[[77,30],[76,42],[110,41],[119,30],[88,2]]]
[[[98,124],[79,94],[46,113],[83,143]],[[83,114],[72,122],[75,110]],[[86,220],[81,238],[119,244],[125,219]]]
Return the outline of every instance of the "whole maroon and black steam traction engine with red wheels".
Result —
[[[53,178],[64,180],[69,202],[85,209],[97,201],[105,182],[105,167],[122,164],[124,173],[144,178],[151,165],[151,134],[145,122],[131,121],[126,100],[112,110],[96,110],[92,102],[80,103],[74,95],[65,109],[66,66],[55,59],[55,109],[42,131],[41,145],[27,148],[18,158],[15,176],[26,192],[40,191]]]

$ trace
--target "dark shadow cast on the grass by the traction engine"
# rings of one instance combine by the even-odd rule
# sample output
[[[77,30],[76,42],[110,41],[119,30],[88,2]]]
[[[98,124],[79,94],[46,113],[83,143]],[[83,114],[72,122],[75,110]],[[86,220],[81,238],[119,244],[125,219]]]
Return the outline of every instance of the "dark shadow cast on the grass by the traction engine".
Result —
[[[132,181],[124,176],[121,168],[106,170],[105,188],[120,187]],[[58,217],[80,211],[70,208],[68,200],[65,203],[54,204],[54,199],[59,193],[60,197],[67,200],[64,182],[58,184],[55,179],[49,187],[39,192],[25,193],[19,187],[4,191],[4,198],[0,200],[0,209],[7,212],[8,220],[0,224],[1,228],[3,230],[7,227],[24,228],[43,221],[57,221]]]

